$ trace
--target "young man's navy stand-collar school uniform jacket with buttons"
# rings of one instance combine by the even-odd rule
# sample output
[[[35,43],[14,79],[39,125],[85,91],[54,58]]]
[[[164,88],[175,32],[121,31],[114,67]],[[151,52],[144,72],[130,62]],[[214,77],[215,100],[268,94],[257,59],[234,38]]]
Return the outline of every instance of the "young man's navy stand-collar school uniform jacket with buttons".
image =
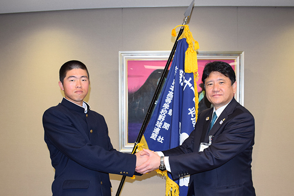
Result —
[[[53,196],[110,196],[108,173],[132,176],[136,155],[116,151],[100,114],[63,99],[43,115]]]

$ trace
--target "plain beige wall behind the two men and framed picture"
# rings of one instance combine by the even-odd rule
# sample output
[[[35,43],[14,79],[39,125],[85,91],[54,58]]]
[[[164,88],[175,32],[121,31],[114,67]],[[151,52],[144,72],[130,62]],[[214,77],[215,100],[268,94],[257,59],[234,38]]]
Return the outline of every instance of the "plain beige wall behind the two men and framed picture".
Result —
[[[120,50],[171,50],[185,7],[0,15],[0,195],[50,196],[54,170],[42,115],[61,101],[60,66],[89,69],[93,110],[119,148]],[[294,192],[294,7],[195,7],[190,30],[200,50],[245,51],[245,107],[256,121],[253,183],[258,196]],[[121,176],[111,174],[115,195]],[[127,177],[122,196],[163,196],[151,172]]]

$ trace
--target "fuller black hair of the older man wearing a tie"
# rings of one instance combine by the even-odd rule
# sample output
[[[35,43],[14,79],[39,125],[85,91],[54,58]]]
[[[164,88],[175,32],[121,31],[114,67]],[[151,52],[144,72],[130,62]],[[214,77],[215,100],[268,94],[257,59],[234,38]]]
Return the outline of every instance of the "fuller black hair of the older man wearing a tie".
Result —
[[[236,81],[236,74],[228,63],[225,63],[223,61],[214,61],[207,63],[204,67],[203,73],[202,73],[202,82],[205,86],[205,79],[210,75],[212,72],[219,72],[225,75],[226,77],[230,78],[231,85],[234,84]]]

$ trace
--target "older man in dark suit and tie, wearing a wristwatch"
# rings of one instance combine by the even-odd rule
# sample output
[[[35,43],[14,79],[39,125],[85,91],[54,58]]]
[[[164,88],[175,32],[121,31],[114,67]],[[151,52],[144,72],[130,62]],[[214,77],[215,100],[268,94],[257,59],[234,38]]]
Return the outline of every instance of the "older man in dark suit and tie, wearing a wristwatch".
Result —
[[[255,196],[254,118],[234,99],[235,72],[227,63],[208,63],[202,81],[214,107],[199,113],[195,130],[181,146],[155,153],[144,149],[141,154],[150,158],[136,171],[166,168],[173,179],[191,175],[188,196]]]

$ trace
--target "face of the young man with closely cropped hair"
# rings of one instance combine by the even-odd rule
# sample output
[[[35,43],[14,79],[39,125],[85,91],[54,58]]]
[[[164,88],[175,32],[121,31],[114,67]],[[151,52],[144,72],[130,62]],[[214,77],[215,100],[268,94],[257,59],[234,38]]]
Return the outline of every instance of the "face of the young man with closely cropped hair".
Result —
[[[64,91],[65,98],[82,106],[83,100],[88,94],[89,78],[86,70],[73,69],[66,73],[63,84],[59,81],[59,87]]]

